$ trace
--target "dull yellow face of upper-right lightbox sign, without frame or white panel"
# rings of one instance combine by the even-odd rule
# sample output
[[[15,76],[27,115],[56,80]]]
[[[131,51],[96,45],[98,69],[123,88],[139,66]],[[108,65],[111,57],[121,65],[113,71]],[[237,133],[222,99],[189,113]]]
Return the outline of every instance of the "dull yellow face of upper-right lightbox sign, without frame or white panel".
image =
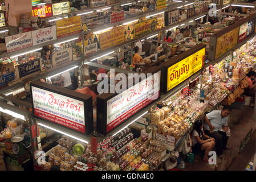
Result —
[[[217,38],[215,59],[237,46],[239,27]]]

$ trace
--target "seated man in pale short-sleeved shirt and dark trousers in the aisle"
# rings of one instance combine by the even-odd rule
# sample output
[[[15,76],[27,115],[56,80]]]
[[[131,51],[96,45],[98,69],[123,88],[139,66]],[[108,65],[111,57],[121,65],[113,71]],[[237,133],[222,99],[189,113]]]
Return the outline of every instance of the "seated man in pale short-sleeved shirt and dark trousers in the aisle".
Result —
[[[226,146],[229,139],[227,137],[227,132],[229,132],[227,120],[230,112],[231,107],[224,106],[222,110],[213,110],[205,116],[205,134],[215,139],[217,155],[220,159],[223,158],[223,150],[230,149]],[[221,129],[224,131],[220,131]]]

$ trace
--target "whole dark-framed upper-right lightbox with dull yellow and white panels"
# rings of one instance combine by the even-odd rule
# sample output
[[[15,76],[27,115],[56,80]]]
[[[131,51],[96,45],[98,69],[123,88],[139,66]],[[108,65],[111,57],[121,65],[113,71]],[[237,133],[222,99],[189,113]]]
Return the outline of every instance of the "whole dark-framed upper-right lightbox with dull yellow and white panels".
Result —
[[[238,42],[242,42],[253,33],[254,27],[255,14],[252,14],[210,36],[209,60],[218,59],[237,46]]]

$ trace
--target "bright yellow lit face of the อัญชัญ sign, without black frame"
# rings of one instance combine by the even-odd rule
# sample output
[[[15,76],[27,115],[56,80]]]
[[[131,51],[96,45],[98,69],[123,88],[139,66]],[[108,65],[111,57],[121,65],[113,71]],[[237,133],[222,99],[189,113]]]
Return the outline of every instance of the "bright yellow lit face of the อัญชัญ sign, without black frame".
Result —
[[[167,70],[167,91],[200,71],[205,61],[205,48],[172,65]]]

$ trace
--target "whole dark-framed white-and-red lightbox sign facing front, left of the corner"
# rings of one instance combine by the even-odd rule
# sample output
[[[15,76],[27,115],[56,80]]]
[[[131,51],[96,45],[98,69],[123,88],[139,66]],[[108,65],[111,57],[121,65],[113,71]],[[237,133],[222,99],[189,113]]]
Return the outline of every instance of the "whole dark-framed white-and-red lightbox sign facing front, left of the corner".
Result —
[[[40,81],[30,84],[33,113],[80,133],[93,131],[92,97]]]

